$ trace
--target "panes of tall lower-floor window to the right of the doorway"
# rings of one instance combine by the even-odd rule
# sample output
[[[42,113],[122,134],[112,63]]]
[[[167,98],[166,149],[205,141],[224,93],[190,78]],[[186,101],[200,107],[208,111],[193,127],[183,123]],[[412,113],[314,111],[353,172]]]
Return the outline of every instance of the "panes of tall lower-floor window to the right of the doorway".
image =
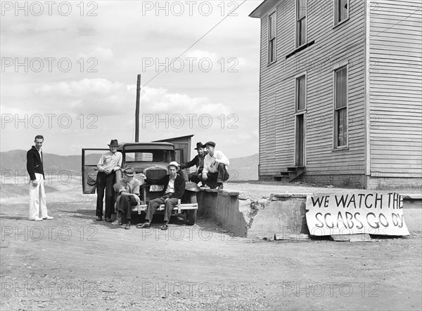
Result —
[[[334,147],[347,146],[347,67],[335,70],[335,143]]]

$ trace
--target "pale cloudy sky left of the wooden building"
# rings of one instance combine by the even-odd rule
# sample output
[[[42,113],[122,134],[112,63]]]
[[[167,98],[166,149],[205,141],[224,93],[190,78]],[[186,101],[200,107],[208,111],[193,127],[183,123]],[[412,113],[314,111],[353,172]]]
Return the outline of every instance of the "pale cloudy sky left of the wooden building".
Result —
[[[1,151],[194,135],[258,152],[262,1],[1,1]]]

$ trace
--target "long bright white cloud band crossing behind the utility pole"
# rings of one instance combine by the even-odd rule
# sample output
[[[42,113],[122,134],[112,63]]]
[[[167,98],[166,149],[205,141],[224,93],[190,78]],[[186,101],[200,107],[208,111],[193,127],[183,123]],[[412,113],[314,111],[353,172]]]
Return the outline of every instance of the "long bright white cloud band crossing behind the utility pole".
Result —
[[[100,78],[44,84],[36,88],[34,93],[50,100],[65,102],[71,112],[76,114],[122,115],[128,107],[132,112],[136,102],[136,86]],[[231,113],[229,107],[221,102],[212,102],[207,97],[191,97],[149,86],[141,89],[140,102],[144,114],[194,113],[218,117]]]

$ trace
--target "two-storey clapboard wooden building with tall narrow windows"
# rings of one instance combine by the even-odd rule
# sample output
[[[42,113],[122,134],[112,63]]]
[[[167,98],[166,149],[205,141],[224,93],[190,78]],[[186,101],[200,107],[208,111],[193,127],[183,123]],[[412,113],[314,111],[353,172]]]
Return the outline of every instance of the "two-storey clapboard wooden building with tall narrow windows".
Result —
[[[421,1],[265,0],[261,180],[422,187]]]

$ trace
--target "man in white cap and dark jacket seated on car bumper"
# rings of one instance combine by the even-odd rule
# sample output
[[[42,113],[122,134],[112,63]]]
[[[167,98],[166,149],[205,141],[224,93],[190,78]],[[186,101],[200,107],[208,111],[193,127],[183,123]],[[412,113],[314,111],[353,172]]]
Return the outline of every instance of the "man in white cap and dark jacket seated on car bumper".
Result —
[[[172,210],[177,205],[179,199],[183,197],[186,185],[183,176],[177,173],[180,166],[176,161],[170,162],[168,169],[170,174],[156,182],[158,185],[164,185],[165,194],[162,197],[149,201],[148,208],[146,209],[145,223],[136,225],[137,228],[151,227],[151,220],[153,220],[155,211],[161,204],[165,204],[164,225],[162,225],[161,230],[167,230],[167,223],[170,220],[170,216],[172,216]],[[145,175],[141,174],[141,178],[145,179],[146,183],[150,183]]]

